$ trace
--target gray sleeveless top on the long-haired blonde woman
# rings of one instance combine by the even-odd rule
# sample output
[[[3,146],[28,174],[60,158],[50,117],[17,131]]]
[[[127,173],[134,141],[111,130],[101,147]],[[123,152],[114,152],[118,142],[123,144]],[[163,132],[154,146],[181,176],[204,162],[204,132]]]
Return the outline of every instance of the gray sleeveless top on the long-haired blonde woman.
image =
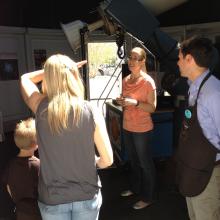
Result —
[[[94,115],[84,102],[81,120],[60,135],[50,132],[47,122],[48,101],[44,99],[36,113],[37,141],[40,157],[39,201],[48,205],[89,200],[99,187],[95,164]]]

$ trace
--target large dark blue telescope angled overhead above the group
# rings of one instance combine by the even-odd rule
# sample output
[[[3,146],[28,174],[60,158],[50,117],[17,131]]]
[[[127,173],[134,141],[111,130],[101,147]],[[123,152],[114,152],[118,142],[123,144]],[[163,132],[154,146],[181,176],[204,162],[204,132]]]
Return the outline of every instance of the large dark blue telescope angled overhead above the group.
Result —
[[[160,23],[154,15],[186,1],[106,0],[101,2],[97,8],[101,17],[99,21],[87,25],[77,20],[69,24],[61,24],[61,27],[74,51],[82,43],[80,30],[91,32],[102,27],[106,34],[116,36],[120,58],[123,58],[124,55],[120,51],[120,47],[123,45],[123,35],[125,33],[131,35],[159,62],[158,74],[163,72],[162,88],[171,96],[182,96],[186,95],[188,84],[186,78],[180,76],[177,66],[179,42],[160,30]],[[86,37],[87,35],[85,35]],[[211,70],[214,70],[219,63],[219,54],[214,47],[213,53],[214,59],[210,64]]]

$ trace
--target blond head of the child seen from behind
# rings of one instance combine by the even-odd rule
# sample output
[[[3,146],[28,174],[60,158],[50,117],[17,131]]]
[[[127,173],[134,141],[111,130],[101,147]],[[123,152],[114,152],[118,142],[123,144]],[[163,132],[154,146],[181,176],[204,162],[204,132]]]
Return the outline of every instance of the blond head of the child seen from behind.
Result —
[[[36,147],[36,128],[34,118],[17,123],[14,140],[17,147],[21,150],[31,150]]]

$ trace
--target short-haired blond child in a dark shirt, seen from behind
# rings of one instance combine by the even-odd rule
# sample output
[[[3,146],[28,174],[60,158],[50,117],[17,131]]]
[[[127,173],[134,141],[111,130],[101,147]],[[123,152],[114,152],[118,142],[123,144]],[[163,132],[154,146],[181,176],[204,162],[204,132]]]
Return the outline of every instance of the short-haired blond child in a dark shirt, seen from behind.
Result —
[[[33,118],[17,124],[14,140],[20,152],[9,162],[4,178],[16,206],[16,219],[41,220],[37,203],[40,161],[34,156],[38,146]]]

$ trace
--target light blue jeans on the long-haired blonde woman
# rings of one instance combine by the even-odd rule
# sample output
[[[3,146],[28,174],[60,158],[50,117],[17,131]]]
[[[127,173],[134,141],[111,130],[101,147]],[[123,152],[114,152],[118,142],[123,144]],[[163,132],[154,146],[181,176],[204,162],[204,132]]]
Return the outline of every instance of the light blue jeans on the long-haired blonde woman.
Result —
[[[91,200],[59,205],[46,205],[38,201],[43,220],[98,220],[102,205],[101,190]]]

